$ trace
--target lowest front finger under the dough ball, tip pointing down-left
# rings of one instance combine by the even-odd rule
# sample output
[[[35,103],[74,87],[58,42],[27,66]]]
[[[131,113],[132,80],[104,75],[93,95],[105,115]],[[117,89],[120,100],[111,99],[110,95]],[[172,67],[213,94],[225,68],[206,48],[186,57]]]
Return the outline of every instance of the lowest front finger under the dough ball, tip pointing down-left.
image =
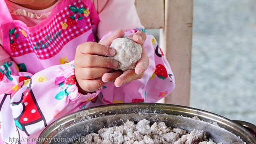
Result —
[[[134,70],[124,71],[124,73],[122,75],[120,75],[120,77],[116,78],[114,85],[116,87],[120,87],[120,86],[124,85],[125,83],[129,83],[135,79],[141,79],[143,74],[144,73],[137,75]]]

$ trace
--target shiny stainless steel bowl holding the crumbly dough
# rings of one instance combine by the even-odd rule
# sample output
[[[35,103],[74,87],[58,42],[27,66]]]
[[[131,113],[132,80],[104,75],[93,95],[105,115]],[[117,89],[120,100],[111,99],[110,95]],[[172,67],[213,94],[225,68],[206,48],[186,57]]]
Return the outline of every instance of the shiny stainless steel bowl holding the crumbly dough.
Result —
[[[193,118],[195,116],[200,120]],[[50,124],[40,134],[40,138],[60,141],[52,144],[68,144],[67,138],[78,138],[97,132],[101,128],[119,126],[127,119],[138,122],[144,118],[150,120],[151,124],[165,122],[167,126],[182,128],[188,132],[194,129],[204,130],[207,138],[211,138],[214,142],[256,144],[256,138],[249,130],[223,116],[196,108],[155,103],[114,104],[80,110]],[[38,142],[38,144],[49,144],[49,142]]]

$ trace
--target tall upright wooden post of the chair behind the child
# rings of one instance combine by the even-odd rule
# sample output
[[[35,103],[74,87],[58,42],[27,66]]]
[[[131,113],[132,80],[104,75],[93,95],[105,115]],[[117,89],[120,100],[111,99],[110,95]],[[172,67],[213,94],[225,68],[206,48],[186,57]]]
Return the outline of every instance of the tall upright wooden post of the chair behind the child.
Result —
[[[176,83],[165,103],[189,106],[192,22],[193,0],[165,0],[165,29],[160,39],[164,40]]]

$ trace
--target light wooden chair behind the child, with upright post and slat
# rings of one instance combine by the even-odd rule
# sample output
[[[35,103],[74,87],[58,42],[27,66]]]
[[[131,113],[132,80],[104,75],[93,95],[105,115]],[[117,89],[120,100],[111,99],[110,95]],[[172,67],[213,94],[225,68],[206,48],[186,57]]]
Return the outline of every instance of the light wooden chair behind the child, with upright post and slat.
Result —
[[[160,29],[160,48],[175,76],[176,88],[164,103],[189,106],[193,0],[135,0],[146,29]]]

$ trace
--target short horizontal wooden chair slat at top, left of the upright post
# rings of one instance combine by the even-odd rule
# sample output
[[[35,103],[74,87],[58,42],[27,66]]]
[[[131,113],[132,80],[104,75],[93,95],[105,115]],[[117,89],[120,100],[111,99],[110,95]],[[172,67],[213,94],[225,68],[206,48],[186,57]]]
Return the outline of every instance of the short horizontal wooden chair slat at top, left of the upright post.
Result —
[[[135,0],[135,6],[146,29],[164,28],[164,0]]]

